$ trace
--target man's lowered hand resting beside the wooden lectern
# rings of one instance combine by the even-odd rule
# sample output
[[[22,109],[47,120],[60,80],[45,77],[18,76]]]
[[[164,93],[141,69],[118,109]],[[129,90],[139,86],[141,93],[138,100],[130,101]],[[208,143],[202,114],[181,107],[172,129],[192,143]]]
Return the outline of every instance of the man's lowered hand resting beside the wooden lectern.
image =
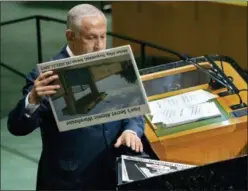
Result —
[[[140,138],[132,132],[124,131],[117,139],[115,147],[118,148],[121,145],[131,147],[133,151],[143,152],[143,145]]]

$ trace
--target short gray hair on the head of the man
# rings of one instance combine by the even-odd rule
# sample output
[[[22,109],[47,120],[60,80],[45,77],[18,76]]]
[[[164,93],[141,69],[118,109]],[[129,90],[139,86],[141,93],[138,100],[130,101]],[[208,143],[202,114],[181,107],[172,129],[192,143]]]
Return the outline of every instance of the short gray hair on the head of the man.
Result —
[[[103,12],[95,6],[90,4],[77,5],[73,7],[67,14],[67,29],[71,29],[74,32],[79,31],[82,19],[84,17],[98,15],[103,16],[103,18],[106,20],[106,17]]]

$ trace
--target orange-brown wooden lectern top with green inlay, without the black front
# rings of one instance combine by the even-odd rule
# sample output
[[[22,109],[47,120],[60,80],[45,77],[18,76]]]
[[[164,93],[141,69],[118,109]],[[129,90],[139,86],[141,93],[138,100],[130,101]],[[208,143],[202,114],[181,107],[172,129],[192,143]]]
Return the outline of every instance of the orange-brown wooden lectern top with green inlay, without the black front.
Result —
[[[247,104],[245,73],[229,57],[212,58],[215,66],[203,57],[194,60],[206,69],[219,67],[232,84],[241,90],[239,95]],[[231,106],[240,102],[238,95],[219,96],[219,93],[227,91],[226,88],[211,87],[209,75],[184,61],[143,69],[140,73],[149,101],[204,89],[218,96],[215,102],[222,113],[217,118],[172,128],[157,127],[147,120],[145,135],[160,160],[204,165],[247,153],[247,114],[240,117],[231,115]],[[247,107],[243,109],[247,110]]]

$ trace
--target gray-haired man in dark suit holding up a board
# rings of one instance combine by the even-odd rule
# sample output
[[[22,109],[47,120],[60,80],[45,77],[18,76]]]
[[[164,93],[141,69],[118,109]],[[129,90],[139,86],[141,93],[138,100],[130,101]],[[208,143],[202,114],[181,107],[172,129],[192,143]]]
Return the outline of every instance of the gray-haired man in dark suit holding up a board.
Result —
[[[52,60],[105,49],[106,26],[106,18],[97,8],[75,6],[68,12],[67,45]],[[120,147],[143,150],[143,117],[59,132],[47,99],[60,88],[51,85],[57,78],[53,71],[39,74],[33,69],[26,77],[24,97],[8,118],[8,129],[16,136],[40,128],[43,147],[37,189],[114,189],[113,167]]]

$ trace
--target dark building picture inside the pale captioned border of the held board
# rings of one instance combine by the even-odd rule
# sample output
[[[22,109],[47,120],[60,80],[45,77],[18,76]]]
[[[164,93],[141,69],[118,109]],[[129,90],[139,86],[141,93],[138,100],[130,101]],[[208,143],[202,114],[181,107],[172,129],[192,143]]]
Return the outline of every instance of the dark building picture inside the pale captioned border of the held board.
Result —
[[[145,104],[130,59],[108,59],[56,73],[59,80],[55,83],[61,88],[51,98],[59,121]]]

